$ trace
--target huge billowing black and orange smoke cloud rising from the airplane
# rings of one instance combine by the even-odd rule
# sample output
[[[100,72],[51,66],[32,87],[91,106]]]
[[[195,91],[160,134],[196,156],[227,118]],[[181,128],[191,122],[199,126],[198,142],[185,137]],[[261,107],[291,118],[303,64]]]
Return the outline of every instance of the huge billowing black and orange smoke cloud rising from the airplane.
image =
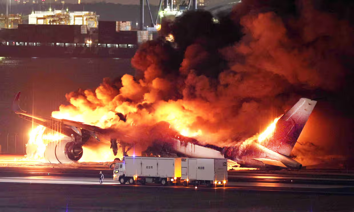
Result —
[[[185,12],[141,45],[131,61],[136,76],[67,94],[70,105],[52,116],[124,132],[144,146],[159,140],[154,126],[164,121],[182,135],[225,146],[261,132],[299,98],[321,97],[328,110],[342,112],[326,116],[322,108],[314,118],[337,117],[339,125],[330,125],[338,132],[344,113],[353,116],[354,31],[348,8],[346,16],[342,1],[333,4],[244,0],[218,21],[207,11]],[[174,43],[164,39],[169,34]],[[127,122],[116,113],[127,114]],[[332,154],[346,154],[338,137],[310,141],[324,130],[306,131],[294,157],[313,153],[313,146],[319,156],[329,154],[330,143]]]

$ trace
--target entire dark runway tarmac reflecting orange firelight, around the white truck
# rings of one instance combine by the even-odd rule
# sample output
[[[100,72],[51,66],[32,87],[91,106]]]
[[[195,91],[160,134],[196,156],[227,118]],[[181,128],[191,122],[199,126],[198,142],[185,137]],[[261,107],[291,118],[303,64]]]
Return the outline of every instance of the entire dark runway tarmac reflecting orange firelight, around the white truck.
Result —
[[[112,175],[98,168],[0,167],[0,211],[354,211],[351,173],[230,171],[225,187],[197,189],[120,185]]]

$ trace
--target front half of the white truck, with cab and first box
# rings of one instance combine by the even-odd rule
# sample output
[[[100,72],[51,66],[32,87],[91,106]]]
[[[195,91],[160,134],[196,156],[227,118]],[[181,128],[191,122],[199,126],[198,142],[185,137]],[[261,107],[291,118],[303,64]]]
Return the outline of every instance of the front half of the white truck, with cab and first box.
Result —
[[[181,158],[125,157],[114,166],[113,179],[120,184],[176,182],[181,178]]]

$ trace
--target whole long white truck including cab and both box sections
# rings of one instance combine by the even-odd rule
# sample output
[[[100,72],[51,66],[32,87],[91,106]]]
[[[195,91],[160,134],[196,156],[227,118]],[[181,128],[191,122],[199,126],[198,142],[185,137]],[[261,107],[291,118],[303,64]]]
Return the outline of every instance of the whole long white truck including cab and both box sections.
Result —
[[[224,185],[227,182],[227,159],[125,157],[115,164],[113,179],[120,184]]]

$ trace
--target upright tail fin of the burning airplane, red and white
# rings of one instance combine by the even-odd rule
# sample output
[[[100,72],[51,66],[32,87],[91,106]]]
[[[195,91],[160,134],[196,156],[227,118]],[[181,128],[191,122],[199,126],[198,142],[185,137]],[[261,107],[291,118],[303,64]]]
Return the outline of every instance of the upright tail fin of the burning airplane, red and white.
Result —
[[[301,98],[276,123],[273,136],[262,144],[289,156],[317,101]]]

